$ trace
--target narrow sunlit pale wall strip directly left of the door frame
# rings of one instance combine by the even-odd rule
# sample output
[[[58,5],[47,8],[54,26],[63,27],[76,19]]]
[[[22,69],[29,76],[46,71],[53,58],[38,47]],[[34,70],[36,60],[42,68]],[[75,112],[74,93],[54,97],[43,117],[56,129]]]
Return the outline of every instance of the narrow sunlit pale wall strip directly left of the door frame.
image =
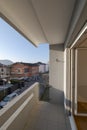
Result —
[[[64,51],[64,105],[66,113],[70,114],[71,88],[70,88],[70,49]]]

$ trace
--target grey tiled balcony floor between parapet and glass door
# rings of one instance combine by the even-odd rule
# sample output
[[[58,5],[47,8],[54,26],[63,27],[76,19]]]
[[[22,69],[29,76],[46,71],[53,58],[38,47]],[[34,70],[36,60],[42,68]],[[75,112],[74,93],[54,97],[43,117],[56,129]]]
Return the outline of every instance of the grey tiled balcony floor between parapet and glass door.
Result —
[[[35,105],[23,130],[71,130],[64,111],[63,93],[50,88],[50,101]]]

